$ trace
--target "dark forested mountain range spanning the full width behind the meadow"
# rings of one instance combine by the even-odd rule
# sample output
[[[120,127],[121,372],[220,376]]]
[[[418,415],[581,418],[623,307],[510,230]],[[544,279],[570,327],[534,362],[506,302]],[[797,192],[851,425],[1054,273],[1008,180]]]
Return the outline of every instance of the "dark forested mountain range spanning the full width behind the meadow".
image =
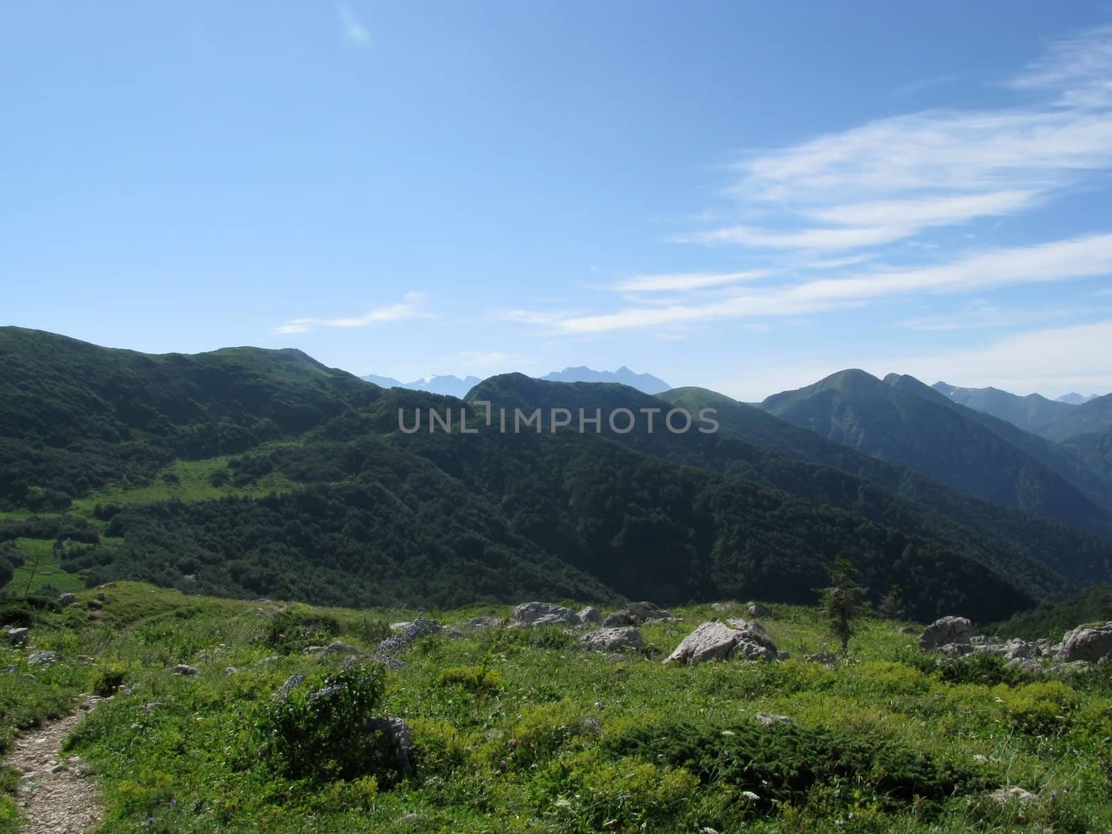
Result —
[[[870,379],[912,410],[915,395]],[[0,543],[31,553],[64,536],[61,568],[89,584],[357,606],[810,603],[848,556],[874,600],[900,585],[910,616],[993,620],[1112,578],[1112,544],[1093,535],[1106,510],[1033,458],[1005,475],[1039,500],[1021,505],[1016,485],[977,500],[878,459],[883,445],[845,445],[854,431],[827,439],[711,391],[505,375],[468,397],[713,407],[721,425],[503,433],[483,408],[296,350],[150,356],[0,328]],[[476,434],[399,430],[399,409],[449,408]],[[972,425],[972,443],[1012,448]]]

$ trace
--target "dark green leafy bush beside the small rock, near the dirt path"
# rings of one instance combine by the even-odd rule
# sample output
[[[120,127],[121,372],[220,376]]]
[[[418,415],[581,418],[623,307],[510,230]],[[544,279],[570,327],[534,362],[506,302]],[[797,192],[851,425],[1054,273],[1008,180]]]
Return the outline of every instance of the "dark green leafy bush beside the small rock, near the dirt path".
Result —
[[[266,762],[290,778],[356,780],[393,773],[391,754],[371,727],[383,698],[384,668],[346,664],[338,672],[287,685],[259,722]]]

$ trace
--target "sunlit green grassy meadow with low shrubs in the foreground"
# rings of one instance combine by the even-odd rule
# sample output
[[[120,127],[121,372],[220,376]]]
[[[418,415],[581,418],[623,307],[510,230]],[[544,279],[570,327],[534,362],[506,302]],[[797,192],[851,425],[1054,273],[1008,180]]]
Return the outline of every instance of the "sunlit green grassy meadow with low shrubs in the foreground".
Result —
[[[33,624],[28,649],[0,648],[0,749],[83,694],[112,694],[67,745],[102,792],[106,834],[1112,831],[1108,665],[1065,679],[986,656],[939,668],[900,624],[866,620],[834,668],[663,667],[696,625],[722,616],[709,606],[643,626],[646,647],[622,657],[583,651],[558,628],[439,634],[419,638],[401,668],[368,673],[381,685],[376,713],[410,728],[416,770],[396,778],[282,759],[274,695],[295,673],[311,684],[339,671],[340,657],[307,645],[371,649],[415,612],[131,583],[105,588],[95,610],[96,593],[61,610],[4,604],[6,618]],[[833,648],[816,610],[774,614],[764,624],[793,658]],[[37,651],[59,659],[30,666]],[[197,674],[175,674],[180,663]],[[792,723],[765,726],[758,712]],[[281,726],[311,732],[310,713],[299,715]],[[2,786],[8,834],[16,775]],[[1033,797],[987,798],[1012,786]]]

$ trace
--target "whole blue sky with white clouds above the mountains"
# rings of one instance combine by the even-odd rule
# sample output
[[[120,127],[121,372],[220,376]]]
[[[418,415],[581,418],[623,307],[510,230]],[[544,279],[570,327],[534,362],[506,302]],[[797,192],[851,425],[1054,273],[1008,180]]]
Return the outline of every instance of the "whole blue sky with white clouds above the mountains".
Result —
[[[0,6],[0,324],[1112,390],[1112,4]]]

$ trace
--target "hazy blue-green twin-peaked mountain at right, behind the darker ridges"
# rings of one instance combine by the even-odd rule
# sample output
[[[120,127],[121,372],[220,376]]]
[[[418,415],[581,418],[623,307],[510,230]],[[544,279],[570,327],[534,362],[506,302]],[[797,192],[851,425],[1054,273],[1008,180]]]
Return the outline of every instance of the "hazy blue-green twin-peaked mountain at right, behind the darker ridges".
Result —
[[[1104,488],[1100,476],[1065,449],[951,403],[910,377],[882,383],[863,370],[846,370],[806,388],[774,395],[762,408],[962,493],[1105,537],[1112,535],[1109,512],[1058,468],[1029,451],[1041,454],[1071,475],[1076,476],[1074,469],[1084,470],[1094,489]]]

